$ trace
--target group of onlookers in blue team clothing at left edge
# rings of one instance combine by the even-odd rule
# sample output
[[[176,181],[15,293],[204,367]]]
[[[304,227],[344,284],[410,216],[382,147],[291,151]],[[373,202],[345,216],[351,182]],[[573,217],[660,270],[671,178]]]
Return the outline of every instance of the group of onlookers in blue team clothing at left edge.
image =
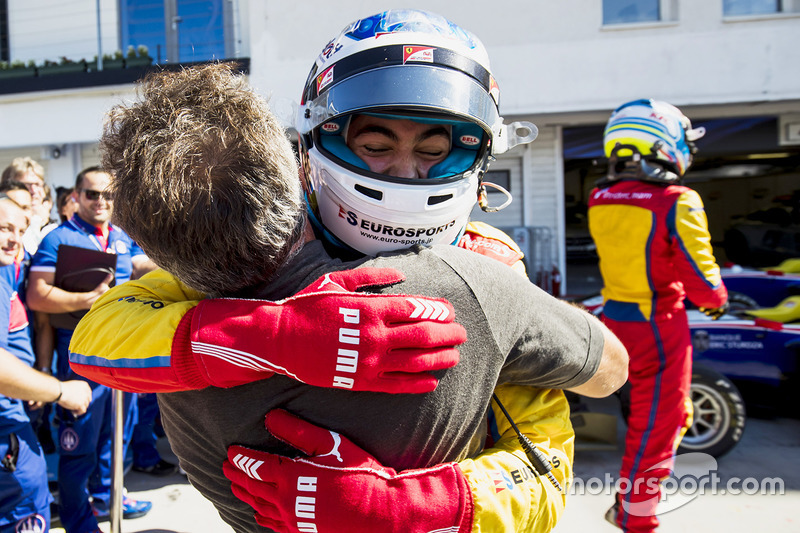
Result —
[[[11,161],[0,179],[0,320],[7,322],[0,356],[9,358],[0,382],[0,531],[47,531],[58,517],[68,533],[95,533],[109,516],[111,391],[70,370],[72,329],[63,321],[51,324],[54,316],[79,317],[110,286],[154,268],[110,223],[109,180],[91,167],[74,187],[54,191],[42,165],[29,157]],[[89,292],[58,287],[57,266],[67,268],[58,261],[62,245],[115,254],[113,276]],[[9,363],[12,356],[26,368]],[[156,449],[155,394],[125,393],[123,405],[127,464],[154,476],[176,473]],[[151,507],[123,497],[124,518]]]

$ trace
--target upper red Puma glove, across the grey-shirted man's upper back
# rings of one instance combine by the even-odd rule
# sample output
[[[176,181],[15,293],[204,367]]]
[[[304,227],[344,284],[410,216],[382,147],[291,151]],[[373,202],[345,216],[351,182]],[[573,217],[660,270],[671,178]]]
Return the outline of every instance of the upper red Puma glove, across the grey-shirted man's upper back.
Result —
[[[326,274],[278,302],[203,300],[184,317],[194,364],[183,372],[216,387],[277,373],[316,387],[430,392],[438,384],[430,372],[458,363],[466,331],[447,300],[356,292],[403,279],[394,269],[360,268]]]

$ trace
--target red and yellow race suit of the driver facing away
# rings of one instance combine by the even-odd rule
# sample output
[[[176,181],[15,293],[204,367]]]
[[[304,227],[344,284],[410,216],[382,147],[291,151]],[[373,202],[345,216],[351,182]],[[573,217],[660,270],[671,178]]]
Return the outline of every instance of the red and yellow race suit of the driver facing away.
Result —
[[[592,191],[589,230],[600,256],[604,322],[630,355],[631,412],[620,478],[630,482],[617,517],[652,531],[659,480],[691,425],[692,346],[684,298],[727,300],[700,196],[680,185],[621,181]],[[622,485],[621,485],[622,486]]]

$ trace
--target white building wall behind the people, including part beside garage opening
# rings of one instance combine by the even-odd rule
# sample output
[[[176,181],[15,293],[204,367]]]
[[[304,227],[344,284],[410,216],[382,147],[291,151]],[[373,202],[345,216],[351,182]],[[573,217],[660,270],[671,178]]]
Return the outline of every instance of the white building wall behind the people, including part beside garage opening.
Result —
[[[313,59],[329,39],[356,18],[396,5],[233,2],[232,11],[242,16],[238,50],[249,51],[250,81],[282,109],[298,100]],[[726,19],[722,0],[662,0],[665,22],[603,26],[599,0],[507,0],[491,9],[477,0],[403,4],[438,12],[475,32],[492,58],[507,121],[539,126],[530,148],[495,163],[494,168],[519,165],[520,173],[512,172],[516,205],[489,220],[550,228],[562,266],[561,128],[602,124],[614,107],[642,97],[674,103],[695,119],[800,116],[797,14]],[[13,57],[93,57],[94,6],[95,0],[9,0]],[[103,47],[109,51],[118,46],[116,6],[115,0],[101,0]],[[74,174],[66,169],[84,165],[81,154],[96,143],[106,110],[132,94],[128,86],[0,95],[0,157],[75,145],[67,152],[70,163],[54,164],[48,174],[55,183],[68,183]]]

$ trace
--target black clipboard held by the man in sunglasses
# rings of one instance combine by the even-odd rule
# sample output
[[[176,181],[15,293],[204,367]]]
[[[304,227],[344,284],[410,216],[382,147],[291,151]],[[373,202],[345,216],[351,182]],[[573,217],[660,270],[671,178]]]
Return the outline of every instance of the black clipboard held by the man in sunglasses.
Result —
[[[69,292],[89,292],[109,274],[116,274],[117,254],[62,244],[56,258],[55,286]],[[115,280],[109,284],[114,286]],[[89,310],[53,313],[50,324],[56,328],[75,329]]]

